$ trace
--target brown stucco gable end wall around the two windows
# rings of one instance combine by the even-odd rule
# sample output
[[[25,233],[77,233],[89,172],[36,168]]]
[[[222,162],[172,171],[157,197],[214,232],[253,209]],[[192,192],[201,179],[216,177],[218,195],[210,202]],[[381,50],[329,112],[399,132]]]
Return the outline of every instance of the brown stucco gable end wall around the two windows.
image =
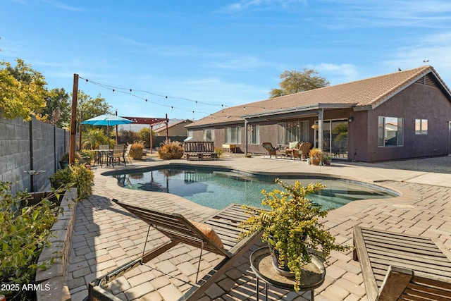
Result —
[[[451,119],[451,102],[438,87],[414,83],[381,106],[368,111],[367,115],[367,156],[359,152],[356,160],[386,161],[440,156],[450,152],[448,122]],[[404,118],[403,146],[378,147],[378,116]],[[415,119],[419,118],[428,120],[427,135],[415,135]]]

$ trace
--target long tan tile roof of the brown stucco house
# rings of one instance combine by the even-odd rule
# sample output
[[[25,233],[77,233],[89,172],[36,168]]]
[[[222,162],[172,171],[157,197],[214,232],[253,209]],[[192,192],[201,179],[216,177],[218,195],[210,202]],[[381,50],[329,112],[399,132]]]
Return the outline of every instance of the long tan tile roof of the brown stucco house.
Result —
[[[441,80],[435,69],[432,66],[421,66],[364,80],[233,106],[191,123],[187,125],[187,128],[218,123],[236,123],[244,121],[245,118],[316,109],[374,109],[428,73],[432,73],[431,80],[438,82],[437,85],[451,100],[451,90]]]

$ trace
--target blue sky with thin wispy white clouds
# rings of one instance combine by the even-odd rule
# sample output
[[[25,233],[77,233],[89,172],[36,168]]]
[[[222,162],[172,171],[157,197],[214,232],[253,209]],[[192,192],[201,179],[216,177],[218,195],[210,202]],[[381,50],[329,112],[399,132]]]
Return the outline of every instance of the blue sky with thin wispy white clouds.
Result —
[[[336,85],[428,64],[451,86],[449,0],[3,0],[0,38],[0,59],[49,89],[77,73],[120,116],[203,118],[303,68]]]

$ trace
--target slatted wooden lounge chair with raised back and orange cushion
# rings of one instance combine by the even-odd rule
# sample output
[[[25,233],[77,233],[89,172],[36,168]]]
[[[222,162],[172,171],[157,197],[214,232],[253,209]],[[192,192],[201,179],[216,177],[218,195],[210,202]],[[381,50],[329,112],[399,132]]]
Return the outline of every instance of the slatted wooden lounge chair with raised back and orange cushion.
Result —
[[[118,269],[114,269],[109,274],[101,276],[100,278],[97,278],[89,283],[88,300],[118,300],[117,297],[104,290],[102,286],[122,276],[136,266],[149,262],[160,254],[163,254],[163,252],[166,252],[175,245],[178,245],[180,242],[194,247],[199,247],[199,265],[202,252],[204,250],[224,257],[224,259],[214,269],[212,269],[202,279],[196,281],[193,287],[179,299],[179,301],[197,300],[197,298],[204,293],[209,285],[214,283],[214,281],[216,281],[218,277],[224,273],[224,271],[230,269],[230,266],[237,259],[242,257],[242,254],[244,254],[249,247],[254,245],[254,243],[261,237],[261,233],[255,233],[251,237],[237,242],[237,237],[240,235],[240,228],[237,228],[237,225],[241,221],[248,218],[248,216],[244,213],[244,209],[242,209],[242,207],[238,204],[231,204],[229,207],[226,207],[226,209],[218,211],[214,214],[214,216],[211,216],[209,219],[206,219],[206,221],[203,221],[201,224],[203,226],[199,226],[198,223],[189,221],[180,214],[144,208],[138,204],[121,202],[117,199],[113,199],[113,202],[116,202],[116,204],[121,205],[121,207],[127,209],[132,214],[135,214],[146,223],[149,223],[149,230],[151,226],[156,228],[158,231],[170,238],[170,241],[145,254],[144,245],[142,257],[129,262],[128,264],[123,264],[123,266],[118,267]],[[214,237],[214,235],[206,233],[204,228],[205,225],[214,228],[214,232],[217,236]],[[202,228],[204,229],[202,230]],[[219,242],[217,237],[220,238]],[[223,247],[221,247],[221,243],[223,244]]]

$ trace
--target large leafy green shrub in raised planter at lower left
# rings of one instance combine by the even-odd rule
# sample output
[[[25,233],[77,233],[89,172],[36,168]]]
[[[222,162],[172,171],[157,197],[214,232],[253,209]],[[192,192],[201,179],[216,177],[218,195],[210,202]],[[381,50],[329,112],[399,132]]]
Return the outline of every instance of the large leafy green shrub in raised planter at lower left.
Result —
[[[37,264],[42,249],[51,245],[50,230],[58,215],[58,206],[49,199],[55,194],[59,197],[61,191],[28,206],[30,195],[22,191],[12,195],[11,185],[0,182],[0,283],[19,285],[20,290],[0,290],[0,294],[6,300],[30,300],[35,296],[21,288],[35,280],[37,269],[53,262]]]

